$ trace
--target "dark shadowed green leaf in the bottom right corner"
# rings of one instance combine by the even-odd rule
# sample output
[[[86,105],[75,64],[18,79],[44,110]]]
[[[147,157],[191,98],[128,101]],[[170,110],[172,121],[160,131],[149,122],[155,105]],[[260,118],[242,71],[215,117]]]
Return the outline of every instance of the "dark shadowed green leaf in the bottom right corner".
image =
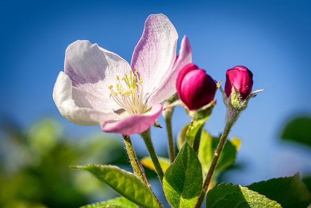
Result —
[[[283,208],[306,208],[311,203],[310,193],[298,174],[261,181],[247,188],[276,200]]]

